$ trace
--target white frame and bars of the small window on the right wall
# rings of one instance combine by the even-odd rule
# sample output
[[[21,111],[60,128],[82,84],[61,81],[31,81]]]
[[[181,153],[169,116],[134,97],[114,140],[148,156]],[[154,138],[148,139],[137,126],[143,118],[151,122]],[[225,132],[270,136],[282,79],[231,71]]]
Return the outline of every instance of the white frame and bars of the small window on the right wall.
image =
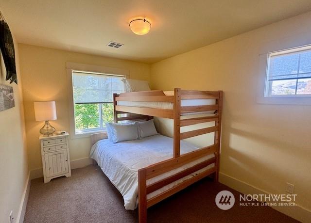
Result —
[[[303,78],[293,78],[293,79],[288,79],[288,80],[296,80],[296,88],[295,88],[295,94],[294,95],[272,95],[272,85],[273,81],[269,81],[269,69],[270,69],[270,59],[273,56],[278,56],[278,55],[291,55],[291,54],[296,54],[301,51],[309,50],[311,51],[311,45],[306,45],[306,46],[301,46],[301,47],[295,47],[295,48],[290,48],[290,49],[283,49],[283,50],[278,50],[274,52],[269,52],[267,55],[267,67],[266,67],[266,80],[265,80],[265,91],[264,91],[264,97],[311,97],[311,94],[305,94],[305,95],[297,95],[297,84],[299,79]],[[297,75],[299,75],[299,65],[300,65],[300,56],[299,56],[299,61],[298,61],[298,70],[297,70]],[[310,73],[310,72],[307,72]],[[293,74],[294,75],[294,74]],[[307,79],[307,78],[306,78]]]

